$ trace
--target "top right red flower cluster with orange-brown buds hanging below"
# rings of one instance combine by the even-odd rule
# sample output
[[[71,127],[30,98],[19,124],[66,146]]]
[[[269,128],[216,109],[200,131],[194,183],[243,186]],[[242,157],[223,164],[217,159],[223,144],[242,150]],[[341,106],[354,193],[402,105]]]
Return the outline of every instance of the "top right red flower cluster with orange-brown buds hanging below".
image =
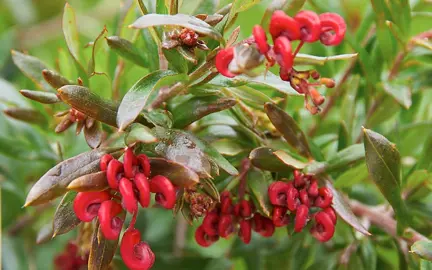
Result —
[[[283,11],[277,10],[270,19],[269,32],[273,39],[273,46],[267,42],[266,32],[260,25],[253,28],[253,39],[246,40],[245,43],[254,45],[256,50],[265,56],[268,67],[277,63],[280,67],[280,78],[289,82],[297,92],[305,94],[306,108],[313,114],[317,113],[318,106],[324,102],[324,97],[314,86],[325,85],[331,88],[334,87],[335,83],[329,78],[320,79],[320,75],[316,71],[295,70],[293,68],[294,58],[304,43],[313,43],[319,40],[326,46],[340,44],[346,32],[344,19],[335,13],[317,15],[308,10],[300,11],[292,18]],[[300,42],[294,52],[291,45],[292,41]],[[238,62],[236,57],[236,47],[220,50],[215,63],[219,73],[229,78],[239,75],[232,68],[236,66],[232,63]],[[254,63],[256,62],[255,58],[251,60]],[[309,83],[309,78],[318,81]],[[308,104],[308,97],[311,97],[314,106]]]

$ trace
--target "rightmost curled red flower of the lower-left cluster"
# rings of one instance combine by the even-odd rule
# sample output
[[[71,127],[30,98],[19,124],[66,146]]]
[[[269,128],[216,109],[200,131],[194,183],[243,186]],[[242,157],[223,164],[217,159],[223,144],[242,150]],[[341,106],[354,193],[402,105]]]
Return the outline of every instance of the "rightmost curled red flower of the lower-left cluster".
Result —
[[[171,181],[162,175],[156,175],[150,181],[150,191],[156,193],[156,202],[166,209],[174,208],[176,191]]]

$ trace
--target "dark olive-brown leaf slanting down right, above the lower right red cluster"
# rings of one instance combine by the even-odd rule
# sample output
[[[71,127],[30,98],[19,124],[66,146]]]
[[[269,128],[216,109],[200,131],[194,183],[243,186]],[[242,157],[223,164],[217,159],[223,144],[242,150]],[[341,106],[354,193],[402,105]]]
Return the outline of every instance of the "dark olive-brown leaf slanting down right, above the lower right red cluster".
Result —
[[[266,103],[264,109],[270,121],[282,133],[288,144],[302,156],[311,158],[312,154],[306,136],[294,119],[273,103]]]

